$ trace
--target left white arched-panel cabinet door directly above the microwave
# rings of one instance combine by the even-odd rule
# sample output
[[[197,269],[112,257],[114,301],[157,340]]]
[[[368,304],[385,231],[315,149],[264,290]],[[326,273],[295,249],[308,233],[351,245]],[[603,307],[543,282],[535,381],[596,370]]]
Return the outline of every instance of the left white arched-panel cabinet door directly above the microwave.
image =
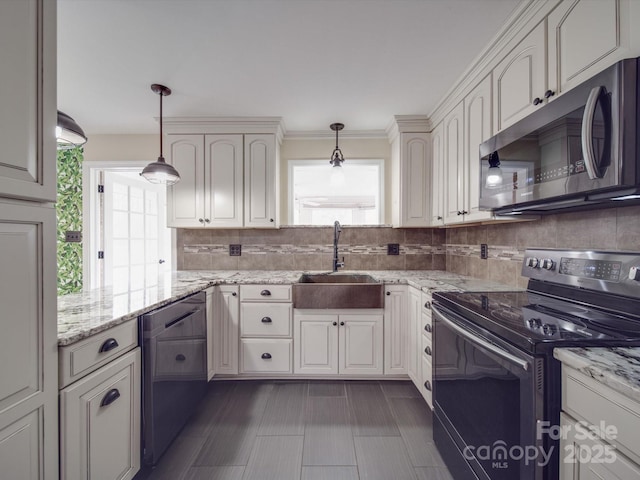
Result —
[[[544,104],[546,25],[540,23],[493,70],[494,132]],[[535,102],[535,99],[541,100]]]

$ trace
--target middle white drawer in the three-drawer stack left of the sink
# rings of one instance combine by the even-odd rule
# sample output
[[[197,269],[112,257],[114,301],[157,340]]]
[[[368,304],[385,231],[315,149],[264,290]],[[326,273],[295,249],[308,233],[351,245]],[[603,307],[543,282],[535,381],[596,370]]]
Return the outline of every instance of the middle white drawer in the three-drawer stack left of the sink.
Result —
[[[290,303],[243,303],[240,332],[243,337],[290,337],[292,315]]]

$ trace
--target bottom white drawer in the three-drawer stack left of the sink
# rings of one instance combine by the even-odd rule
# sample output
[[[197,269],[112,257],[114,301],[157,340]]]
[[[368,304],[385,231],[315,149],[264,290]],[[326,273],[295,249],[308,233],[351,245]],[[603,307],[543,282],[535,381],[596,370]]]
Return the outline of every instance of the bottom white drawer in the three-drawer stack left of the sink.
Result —
[[[242,373],[291,373],[291,340],[244,338],[240,341]]]

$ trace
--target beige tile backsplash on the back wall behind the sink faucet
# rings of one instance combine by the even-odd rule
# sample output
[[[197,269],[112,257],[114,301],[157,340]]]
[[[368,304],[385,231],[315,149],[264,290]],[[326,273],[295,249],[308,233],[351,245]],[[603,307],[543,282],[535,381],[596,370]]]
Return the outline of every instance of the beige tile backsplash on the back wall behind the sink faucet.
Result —
[[[345,270],[445,270],[445,231],[343,226],[338,242]],[[387,255],[387,245],[400,245]],[[242,245],[230,256],[229,245]],[[180,270],[331,270],[333,227],[278,230],[179,229]]]

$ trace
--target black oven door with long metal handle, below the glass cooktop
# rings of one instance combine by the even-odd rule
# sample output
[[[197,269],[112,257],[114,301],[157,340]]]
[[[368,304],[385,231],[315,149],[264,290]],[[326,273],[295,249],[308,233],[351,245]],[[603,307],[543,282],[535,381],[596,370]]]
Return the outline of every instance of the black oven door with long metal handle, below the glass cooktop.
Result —
[[[542,479],[543,370],[434,304],[434,439],[454,478]]]

